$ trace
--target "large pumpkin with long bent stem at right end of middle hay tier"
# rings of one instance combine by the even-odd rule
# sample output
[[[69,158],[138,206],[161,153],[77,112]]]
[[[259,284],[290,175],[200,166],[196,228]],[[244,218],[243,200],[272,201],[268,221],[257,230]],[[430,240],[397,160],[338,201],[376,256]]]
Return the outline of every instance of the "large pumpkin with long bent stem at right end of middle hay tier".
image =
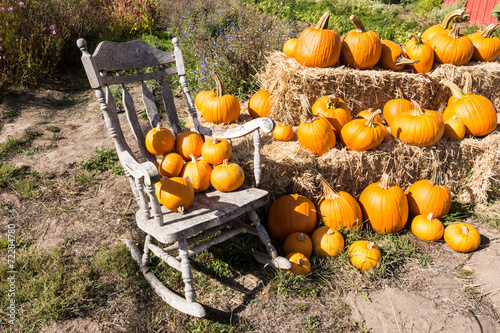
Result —
[[[465,133],[468,135],[483,136],[495,130],[497,113],[489,99],[476,94],[464,94],[456,84],[448,80],[441,80],[440,83],[450,88],[457,99],[444,110],[444,121],[456,115],[464,123]]]

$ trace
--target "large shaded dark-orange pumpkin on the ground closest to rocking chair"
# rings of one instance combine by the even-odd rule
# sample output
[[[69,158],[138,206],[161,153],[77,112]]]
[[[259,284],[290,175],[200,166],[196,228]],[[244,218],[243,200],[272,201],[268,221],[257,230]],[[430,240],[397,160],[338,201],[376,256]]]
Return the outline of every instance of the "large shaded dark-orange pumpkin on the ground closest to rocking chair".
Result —
[[[312,234],[316,228],[316,207],[311,200],[289,194],[276,199],[269,209],[268,225],[271,234],[284,240],[293,232]]]

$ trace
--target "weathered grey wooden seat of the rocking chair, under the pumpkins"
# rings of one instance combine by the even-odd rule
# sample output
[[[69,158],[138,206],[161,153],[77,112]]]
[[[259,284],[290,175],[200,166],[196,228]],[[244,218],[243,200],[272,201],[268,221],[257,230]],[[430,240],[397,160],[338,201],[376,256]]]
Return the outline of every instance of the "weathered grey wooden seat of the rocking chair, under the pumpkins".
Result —
[[[267,191],[261,189],[243,185],[233,192],[221,192],[210,187],[195,194],[193,204],[184,214],[162,206],[163,225],[158,225],[153,218],[141,218],[141,211],[136,214],[137,225],[159,242],[167,244],[222,225],[266,203]]]

